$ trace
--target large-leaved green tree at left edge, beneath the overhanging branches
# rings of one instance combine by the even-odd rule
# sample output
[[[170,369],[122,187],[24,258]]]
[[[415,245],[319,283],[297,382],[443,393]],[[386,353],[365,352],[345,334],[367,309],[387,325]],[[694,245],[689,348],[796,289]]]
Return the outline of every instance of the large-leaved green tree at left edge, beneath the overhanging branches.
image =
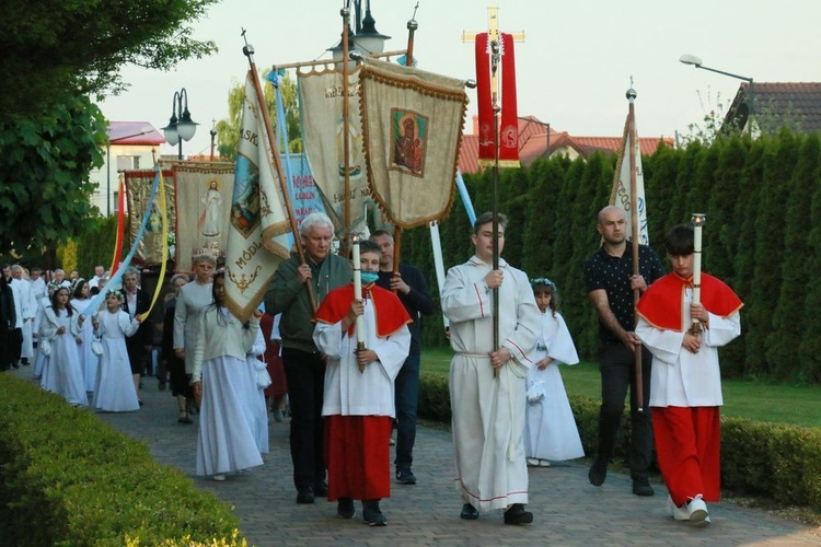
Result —
[[[106,126],[88,97],[0,123],[0,253],[42,254],[97,214],[89,173],[103,164]]]

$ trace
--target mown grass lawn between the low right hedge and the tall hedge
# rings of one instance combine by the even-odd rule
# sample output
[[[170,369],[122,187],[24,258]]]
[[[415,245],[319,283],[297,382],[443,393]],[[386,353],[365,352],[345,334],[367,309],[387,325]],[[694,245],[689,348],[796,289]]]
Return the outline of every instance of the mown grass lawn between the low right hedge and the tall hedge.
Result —
[[[425,348],[421,356],[424,372],[448,374],[453,351],[450,348]],[[599,398],[598,363],[581,362],[562,366],[562,377],[569,395]],[[747,380],[725,380],[724,416],[758,421],[791,423],[821,428],[821,387],[770,384]]]

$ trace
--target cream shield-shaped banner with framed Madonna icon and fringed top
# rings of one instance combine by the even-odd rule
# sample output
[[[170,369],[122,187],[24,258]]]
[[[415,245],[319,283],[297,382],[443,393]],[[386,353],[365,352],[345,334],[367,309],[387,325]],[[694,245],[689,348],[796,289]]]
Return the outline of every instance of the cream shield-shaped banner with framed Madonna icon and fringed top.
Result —
[[[443,219],[455,193],[464,81],[366,59],[359,83],[373,198],[402,229]]]

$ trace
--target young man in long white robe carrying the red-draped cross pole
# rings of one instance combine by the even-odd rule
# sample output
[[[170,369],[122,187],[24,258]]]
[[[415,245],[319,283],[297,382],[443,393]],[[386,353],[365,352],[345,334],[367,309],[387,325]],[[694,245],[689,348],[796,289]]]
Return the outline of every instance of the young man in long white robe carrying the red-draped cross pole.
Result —
[[[442,313],[450,321],[455,356],[450,365],[456,490],[461,517],[505,509],[505,524],[528,524],[528,466],[524,458],[524,379],[533,363],[539,307],[528,276],[499,259],[493,269],[494,236],[505,246],[507,219],[484,213],[473,225],[476,254],[448,271]],[[499,347],[494,348],[493,290],[499,291]]]

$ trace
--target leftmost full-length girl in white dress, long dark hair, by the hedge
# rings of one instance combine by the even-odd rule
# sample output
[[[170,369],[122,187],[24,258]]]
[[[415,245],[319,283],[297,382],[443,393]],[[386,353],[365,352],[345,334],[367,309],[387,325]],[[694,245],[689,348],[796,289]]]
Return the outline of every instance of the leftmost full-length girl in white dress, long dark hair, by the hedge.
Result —
[[[77,338],[83,323],[84,317],[69,303],[69,289],[55,289],[51,305],[44,311],[39,325],[41,344],[48,347],[48,361],[43,370],[41,386],[61,395],[73,406],[89,406],[77,351]]]

